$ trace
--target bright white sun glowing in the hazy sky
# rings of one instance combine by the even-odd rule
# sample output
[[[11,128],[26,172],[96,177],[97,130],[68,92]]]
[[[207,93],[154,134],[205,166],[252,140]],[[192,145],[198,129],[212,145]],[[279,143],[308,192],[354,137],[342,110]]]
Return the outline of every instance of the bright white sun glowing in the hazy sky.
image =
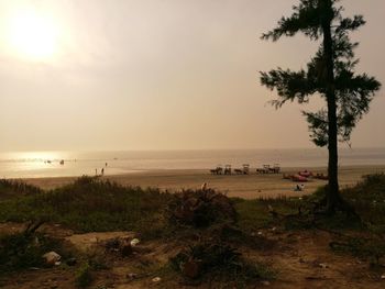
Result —
[[[19,56],[36,60],[50,58],[57,44],[55,23],[33,10],[16,11],[9,21],[9,42]]]

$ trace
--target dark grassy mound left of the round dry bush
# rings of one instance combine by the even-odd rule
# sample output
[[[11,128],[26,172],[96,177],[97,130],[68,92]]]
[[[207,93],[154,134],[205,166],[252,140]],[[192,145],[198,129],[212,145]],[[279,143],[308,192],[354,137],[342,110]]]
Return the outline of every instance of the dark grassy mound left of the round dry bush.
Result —
[[[0,222],[43,219],[78,232],[151,231],[160,226],[168,199],[158,189],[81,177],[58,189],[1,202]]]

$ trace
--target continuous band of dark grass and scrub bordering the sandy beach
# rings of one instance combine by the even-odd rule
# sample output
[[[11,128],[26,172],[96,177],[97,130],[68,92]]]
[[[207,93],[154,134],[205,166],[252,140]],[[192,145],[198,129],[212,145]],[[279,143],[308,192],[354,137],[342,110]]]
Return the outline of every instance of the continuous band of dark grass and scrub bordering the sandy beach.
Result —
[[[155,238],[174,232],[168,227],[169,221],[193,227],[205,227],[220,220],[237,221],[238,226],[249,233],[277,225],[287,230],[309,229],[312,225],[310,219],[276,220],[271,210],[282,215],[298,214],[301,210],[306,215],[324,196],[324,188],[302,198],[229,200],[211,190],[187,190],[173,196],[158,189],[123,187],[95,177],[81,177],[46,192],[20,181],[1,180],[0,196],[12,193],[18,197],[3,198],[0,202],[0,222],[43,219],[78,232],[133,230],[142,237]],[[385,232],[384,174],[365,176],[354,188],[342,190],[342,196],[374,233]],[[318,222],[332,230],[362,230],[344,214]]]

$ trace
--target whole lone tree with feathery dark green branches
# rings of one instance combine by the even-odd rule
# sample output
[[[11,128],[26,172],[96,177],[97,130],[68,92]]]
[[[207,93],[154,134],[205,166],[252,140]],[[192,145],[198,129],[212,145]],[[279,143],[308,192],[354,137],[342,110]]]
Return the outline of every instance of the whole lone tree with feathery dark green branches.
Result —
[[[277,68],[261,73],[261,82],[271,90],[276,89],[275,108],[287,101],[306,103],[312,96],[326,100],[326,108],[317,112],[302,111],[310,137],[317,146],[328,146],[329,184],[324,204],[329,212],[346,209],[339,192],[338,141],[350,141],[351,132],[363,114],[381,84],[366,74],[358,75],[354,68],[354,48],[349,33],[365,24],[362,15],[343,18],[339,0],[300,0],[294,5],[289,18],[283,16],[273,31],[262,35],[263,40],[277,41],[282,36],[304,33],[311,41],[320,41],[320,47],[308,63],[307,69],[292,71]]]

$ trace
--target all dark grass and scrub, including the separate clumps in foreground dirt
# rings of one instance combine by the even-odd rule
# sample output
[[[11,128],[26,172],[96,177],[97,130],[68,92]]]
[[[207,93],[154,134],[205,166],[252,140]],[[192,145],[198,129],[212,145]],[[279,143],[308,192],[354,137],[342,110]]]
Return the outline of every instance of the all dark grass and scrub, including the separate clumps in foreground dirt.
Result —
[[[199,268],[199,280],[217,277],[226,280],[226,276],[232,276],[240,284],[248,284],[250,280],[271,279],[274,274],[268,267],[253,265],[238,255],[234,247],[263,248],[265,241],[255,237],[255,233],[273,226],[286,230],[322,227],[339,232],[354,231],[365,238],[338,240],[331,247],[336,252],[371,258],[374,263],[378,263],[385,255],[382,245],[385,244],[383,174],[365,176],[354,188],[341,191],[363,223],[352,222],[342,213],[315,219],[311,208],[324,196],[324,188],[302,198],[242,200],[229,199],[211,190],[187,190],[169,194],[158,189],[123,187],[94,177],[81,177],[70,185],[50,191],[23,186],[21,182],[0,181],[0,196],[9,196],[16,190],[24,192],[0,201],[0,222],[46,220],[78,232],[136,231],[141,238],[178,240],[190,246],[184,246],[175,256],[172,260],[173,268],[184,276],[185,265],[193,262],[193,269]],[[217,238],[210,241],[210,236]],[[32,240],[23,240],[21,235],[2,236],[0,258],[7,259],[2,263],[2,268],[41,266],[41,255],[53,251],[55,245],[50,240],[45,241],[44,236],[40,238],[43,245],[36,248],[31,245]],[[45,242],[47,246],[44,245]],[[255,245],[256,243],[258,244]],[[13,252],[12,256],[16,252],[19,260],[12,259],[11,255],[7,255],[8,252]],[[91,263],[87,264],[94,269]]]

